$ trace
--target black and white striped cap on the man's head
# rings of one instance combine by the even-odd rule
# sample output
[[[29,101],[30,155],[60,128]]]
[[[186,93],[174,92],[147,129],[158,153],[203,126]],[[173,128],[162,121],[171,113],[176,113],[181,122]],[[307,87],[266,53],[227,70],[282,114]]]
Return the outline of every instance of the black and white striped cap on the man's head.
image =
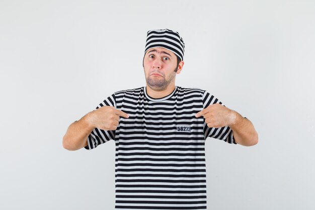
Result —
[[[184,59],[185,44],[178,32],[169,29],[150,30],[146,35],[145,50],[153,47],[163,47]]]

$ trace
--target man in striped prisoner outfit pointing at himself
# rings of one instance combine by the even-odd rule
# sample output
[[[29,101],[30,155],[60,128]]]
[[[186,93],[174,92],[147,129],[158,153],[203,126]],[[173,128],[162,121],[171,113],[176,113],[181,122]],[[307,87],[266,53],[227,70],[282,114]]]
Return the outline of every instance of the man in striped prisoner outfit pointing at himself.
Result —
[[[115,141],[115,209],[205,209],[205,139],[258,142],[246,117],[205,90],[175,86],[184,48],[178,32],[148,31],[146,86],[115,92],[63,137],[67,150]]]

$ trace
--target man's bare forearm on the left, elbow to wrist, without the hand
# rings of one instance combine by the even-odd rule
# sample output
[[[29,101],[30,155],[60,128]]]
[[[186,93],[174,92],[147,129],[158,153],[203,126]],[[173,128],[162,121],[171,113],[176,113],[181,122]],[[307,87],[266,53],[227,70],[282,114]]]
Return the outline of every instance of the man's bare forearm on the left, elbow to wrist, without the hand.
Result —
[[[62,146],[64,149],[73,151],[79,150],[88,145],[88,136],[95,128],[90,121],[92,112],[89,112],[80,120],[74,121],[69,125],[62,139]]]

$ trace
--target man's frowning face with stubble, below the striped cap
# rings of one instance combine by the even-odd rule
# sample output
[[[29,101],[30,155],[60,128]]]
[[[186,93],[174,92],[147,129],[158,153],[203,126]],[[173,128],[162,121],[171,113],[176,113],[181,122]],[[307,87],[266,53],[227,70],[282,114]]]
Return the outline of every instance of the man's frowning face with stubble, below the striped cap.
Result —
[[[163,47],[154,47],[146,51],[143,69],[147,85],[154,91],[163,91],[171,83],[175,84],[178,69],[176,55]]]

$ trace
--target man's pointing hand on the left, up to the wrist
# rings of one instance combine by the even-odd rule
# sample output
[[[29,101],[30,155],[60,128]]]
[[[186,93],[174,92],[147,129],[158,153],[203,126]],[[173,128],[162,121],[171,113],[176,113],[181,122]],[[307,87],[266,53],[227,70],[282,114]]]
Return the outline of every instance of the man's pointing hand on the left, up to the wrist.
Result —
[[[119,117],[128,118],[129,115],[113,106],[102,106],[89,113],[89,122],[102,130],[116,130]]]

